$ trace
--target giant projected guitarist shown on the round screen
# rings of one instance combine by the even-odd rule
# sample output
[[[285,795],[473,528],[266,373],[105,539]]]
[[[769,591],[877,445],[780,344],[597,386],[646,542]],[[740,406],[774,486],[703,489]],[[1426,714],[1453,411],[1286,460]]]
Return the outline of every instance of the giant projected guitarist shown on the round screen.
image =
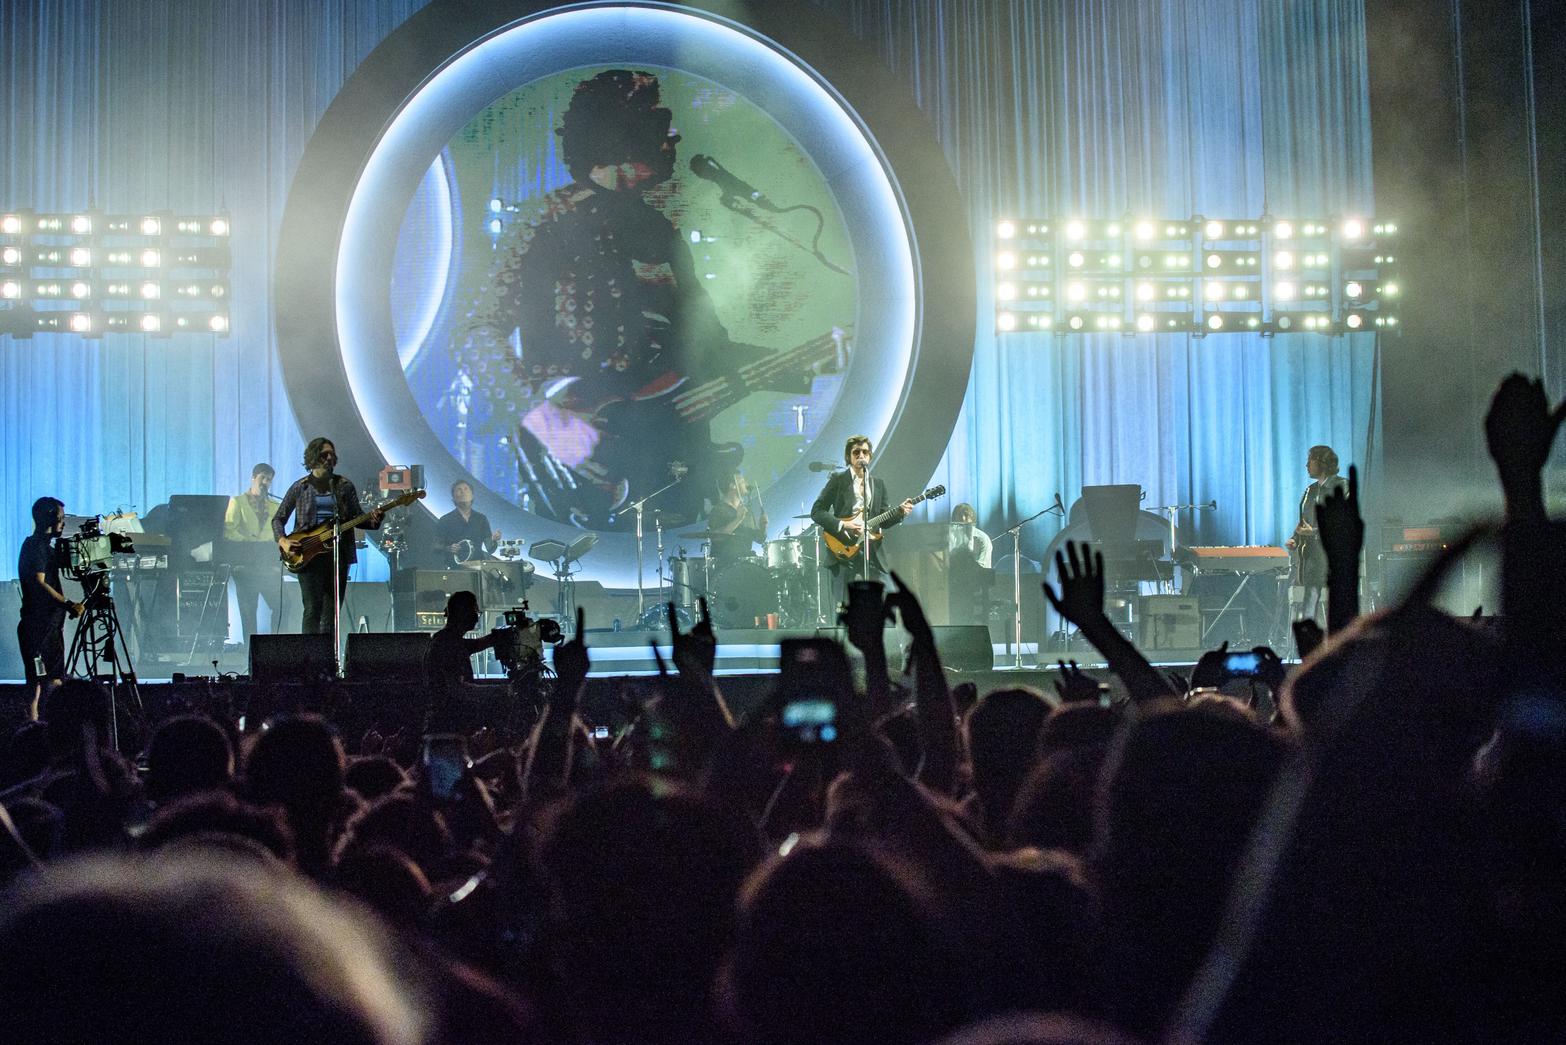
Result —
[[[786,347],[730,335],[705,285],[717,272],[698,272],[692,253],[700,233],[655,206],[680,210],[669,183],[681,135],[661,94],[656,75],[628,69],[575,84],[554,128],[570,181],[539,197],[521,236],[500,244],[470,319],[467,344],[501,349],[484,363],[504,368],[523,400],[506,432],[518,499],[587,529],[630,529],[628,508],[677,479],[647,510],[659,510],[666,527],[695,522],[756,438],[714,440],[713,419],[755,393],[806,396],[817,374],[847,360],[835,324],[852,313],[841,308],[816,336]],[[738,196],[742,183],[716,161],[692,155],[687,164]],[[709,185],[692,185],[711,197]],[[827,278],[852,283],[825,264],[839,274]],[[797,278],[786,289],[810,296]],[[774,322],[769,332],[786,330]]]

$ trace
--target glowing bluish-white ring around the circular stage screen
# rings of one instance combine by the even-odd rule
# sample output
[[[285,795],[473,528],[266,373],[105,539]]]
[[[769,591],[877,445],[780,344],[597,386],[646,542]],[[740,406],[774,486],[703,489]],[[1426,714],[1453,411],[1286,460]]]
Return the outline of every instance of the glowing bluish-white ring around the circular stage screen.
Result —
[[[756,105],[821,171],[844,217],[858,280],[855,355],[814,446],[769,488],[775,504],[811,501],[819,476],[805,463],[836,458],[866,432],[877,446],[908,382],[919,327],[915,249],[904,202],[868,130],[813,70],[745,27],[669,8],[590,6],[545,13],[476,41],[404,103],[354,186],[338,241],[335,319],[343,372],[376,449],[388,461],[423,461],[426,507],[453,505],[468,479],[413,399],[398,363],[387,294],[398,222],[431,163],[471,117],[511,91],[570,69],[647,64],[711,80]],[[503,529],[561,532],[498,499],[485,512]],[[625,584],[634,544],[601,533],[590,577]],[[622,546],[623,544],[623,546]]]

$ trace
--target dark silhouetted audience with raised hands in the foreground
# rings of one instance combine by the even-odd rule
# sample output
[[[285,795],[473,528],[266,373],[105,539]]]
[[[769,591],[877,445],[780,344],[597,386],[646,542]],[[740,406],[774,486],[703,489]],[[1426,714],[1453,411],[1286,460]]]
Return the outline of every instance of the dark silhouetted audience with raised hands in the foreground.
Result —
[[[1373,615],[1350,469],[1326,634],[1242,687],[1154,668],[1074,546],[1045,593],[1115,687],[954,687],[896,577],[850,599],[863,687],[814,643],[738,718],[670,612],[608,737],[581,616],[537,707],[462,735],[208,709],[122,752],[67,681],[0,751],[0,1040],[1566,1040],[1563,416],[1500,385],[1505,518]],[[1433,609],[1486,540],[1503,613]]]

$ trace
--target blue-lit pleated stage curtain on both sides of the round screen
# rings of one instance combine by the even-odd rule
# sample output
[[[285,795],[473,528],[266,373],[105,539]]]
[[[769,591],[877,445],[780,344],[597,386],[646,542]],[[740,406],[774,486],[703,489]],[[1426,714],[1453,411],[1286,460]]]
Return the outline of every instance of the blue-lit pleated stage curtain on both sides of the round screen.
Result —
[[[1085,483],[1206,502],[1192,543],[1272,543],[1304,454],[1362,463],[1370,335],[990,332],[1002,214],[1372,213],[1359,0],[816,0],[929,116],[979,255],[966,404],[933,482],[994,532]],[[354,67],[423,0],[8,0],[0,206],[233,213],[233,336],[0,338],[0,577],[27,507],[233,493],[304,440],[271,329],[288,181]],[[938,307],[938,305],[932,305]],[[911,493],[911,491],[910,491]],[[1182,527],[1187,519],[1182,519]],[[1024,552],[1054,535],[1029,527]]]

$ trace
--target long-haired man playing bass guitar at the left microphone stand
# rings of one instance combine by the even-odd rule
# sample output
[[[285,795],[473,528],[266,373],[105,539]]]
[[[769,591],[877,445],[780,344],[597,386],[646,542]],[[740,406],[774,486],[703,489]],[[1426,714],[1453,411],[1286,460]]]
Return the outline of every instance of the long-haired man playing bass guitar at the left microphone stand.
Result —
[[[335,474],[337,447],[324,436],[310,440],[304,447],[304,466],[310,472],[288,487],[277,513],[272,515],[272,537],[283,552],[294,549],[293,538],[283,524],[288,516],[294,518],[294,530],[309,530],[319,522],[332,519],[352,519],[363,513],[359,507],[359,491],[354,483]],[[370,513],[370,521],[363,524],[366,530],[381,529],[382,508]],[[299,598],[304,602],[304,621],[299,630],[305,635],[330,632],[337,618],[338,598],[348,591],[348,568],[354,565],[352,532],[343,535],[341,548],[334,555],[316,555],[299,569]],[[334,584],[332,560],[337,558],[337,577]],[[334,590],[337,596],[334,598]]]

